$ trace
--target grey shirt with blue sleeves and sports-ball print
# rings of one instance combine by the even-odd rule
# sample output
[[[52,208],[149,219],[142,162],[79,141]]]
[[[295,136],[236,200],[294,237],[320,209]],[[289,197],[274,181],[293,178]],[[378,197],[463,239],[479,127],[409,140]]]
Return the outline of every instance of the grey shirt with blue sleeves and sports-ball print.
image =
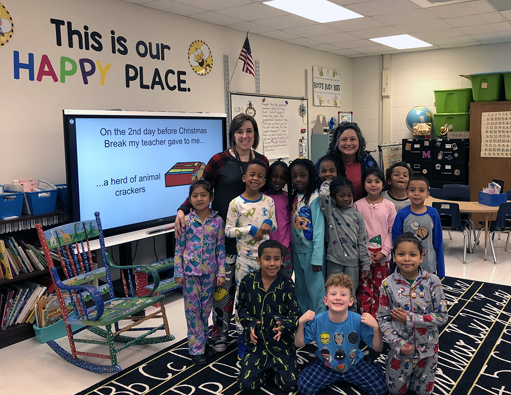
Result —
[[[415,214],[411,206],[402,208],[392,226],[392,243],[398,236],[411,232],[422,241],[424,261],[421,266],[430,273],[436,272],[440,278],[446,276],[444,262],[444,238],[442,224],[436,208],[425,206],[426,212]]]

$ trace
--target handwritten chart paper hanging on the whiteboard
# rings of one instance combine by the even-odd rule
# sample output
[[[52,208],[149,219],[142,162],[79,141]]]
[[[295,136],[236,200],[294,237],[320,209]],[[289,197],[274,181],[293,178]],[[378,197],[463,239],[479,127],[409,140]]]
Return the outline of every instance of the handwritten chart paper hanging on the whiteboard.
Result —
[[[262,108],[264,154],[268,158],[289,157],[287,104],[266,99]]]

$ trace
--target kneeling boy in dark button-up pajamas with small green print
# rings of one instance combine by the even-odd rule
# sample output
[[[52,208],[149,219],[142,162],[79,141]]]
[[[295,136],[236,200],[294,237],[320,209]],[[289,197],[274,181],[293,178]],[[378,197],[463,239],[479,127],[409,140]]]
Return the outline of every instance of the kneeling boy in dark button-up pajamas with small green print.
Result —
[[[241,280],[238,294],[245,342],[238,381],[242,390],[253,390],[273,372],[278,388],[294,391],[298,365],[293,336],[300,313],[294,284],[279,271],[283,258],[280,243],[261,243],[258,255],[260,269]]]

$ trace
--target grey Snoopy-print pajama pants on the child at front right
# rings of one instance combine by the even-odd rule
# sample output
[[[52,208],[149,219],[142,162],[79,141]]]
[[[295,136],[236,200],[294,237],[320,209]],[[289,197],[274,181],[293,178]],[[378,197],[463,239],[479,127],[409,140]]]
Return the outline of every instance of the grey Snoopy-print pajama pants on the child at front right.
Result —
[[[415,358],[415,357],[414,357]],[[385,379],[392,395],[414,391],[419,395],[433,392],[438,354],[413,364],[413,358],[390,350],[385,359]]]

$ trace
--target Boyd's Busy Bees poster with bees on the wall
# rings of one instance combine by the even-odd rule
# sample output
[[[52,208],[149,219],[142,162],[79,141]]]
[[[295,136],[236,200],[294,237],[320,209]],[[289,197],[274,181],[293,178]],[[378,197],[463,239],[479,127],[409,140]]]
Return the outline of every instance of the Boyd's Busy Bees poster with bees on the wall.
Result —
[[[339,70],[312,66],[312,87],[315,106],[341,106],[341,76]]]

